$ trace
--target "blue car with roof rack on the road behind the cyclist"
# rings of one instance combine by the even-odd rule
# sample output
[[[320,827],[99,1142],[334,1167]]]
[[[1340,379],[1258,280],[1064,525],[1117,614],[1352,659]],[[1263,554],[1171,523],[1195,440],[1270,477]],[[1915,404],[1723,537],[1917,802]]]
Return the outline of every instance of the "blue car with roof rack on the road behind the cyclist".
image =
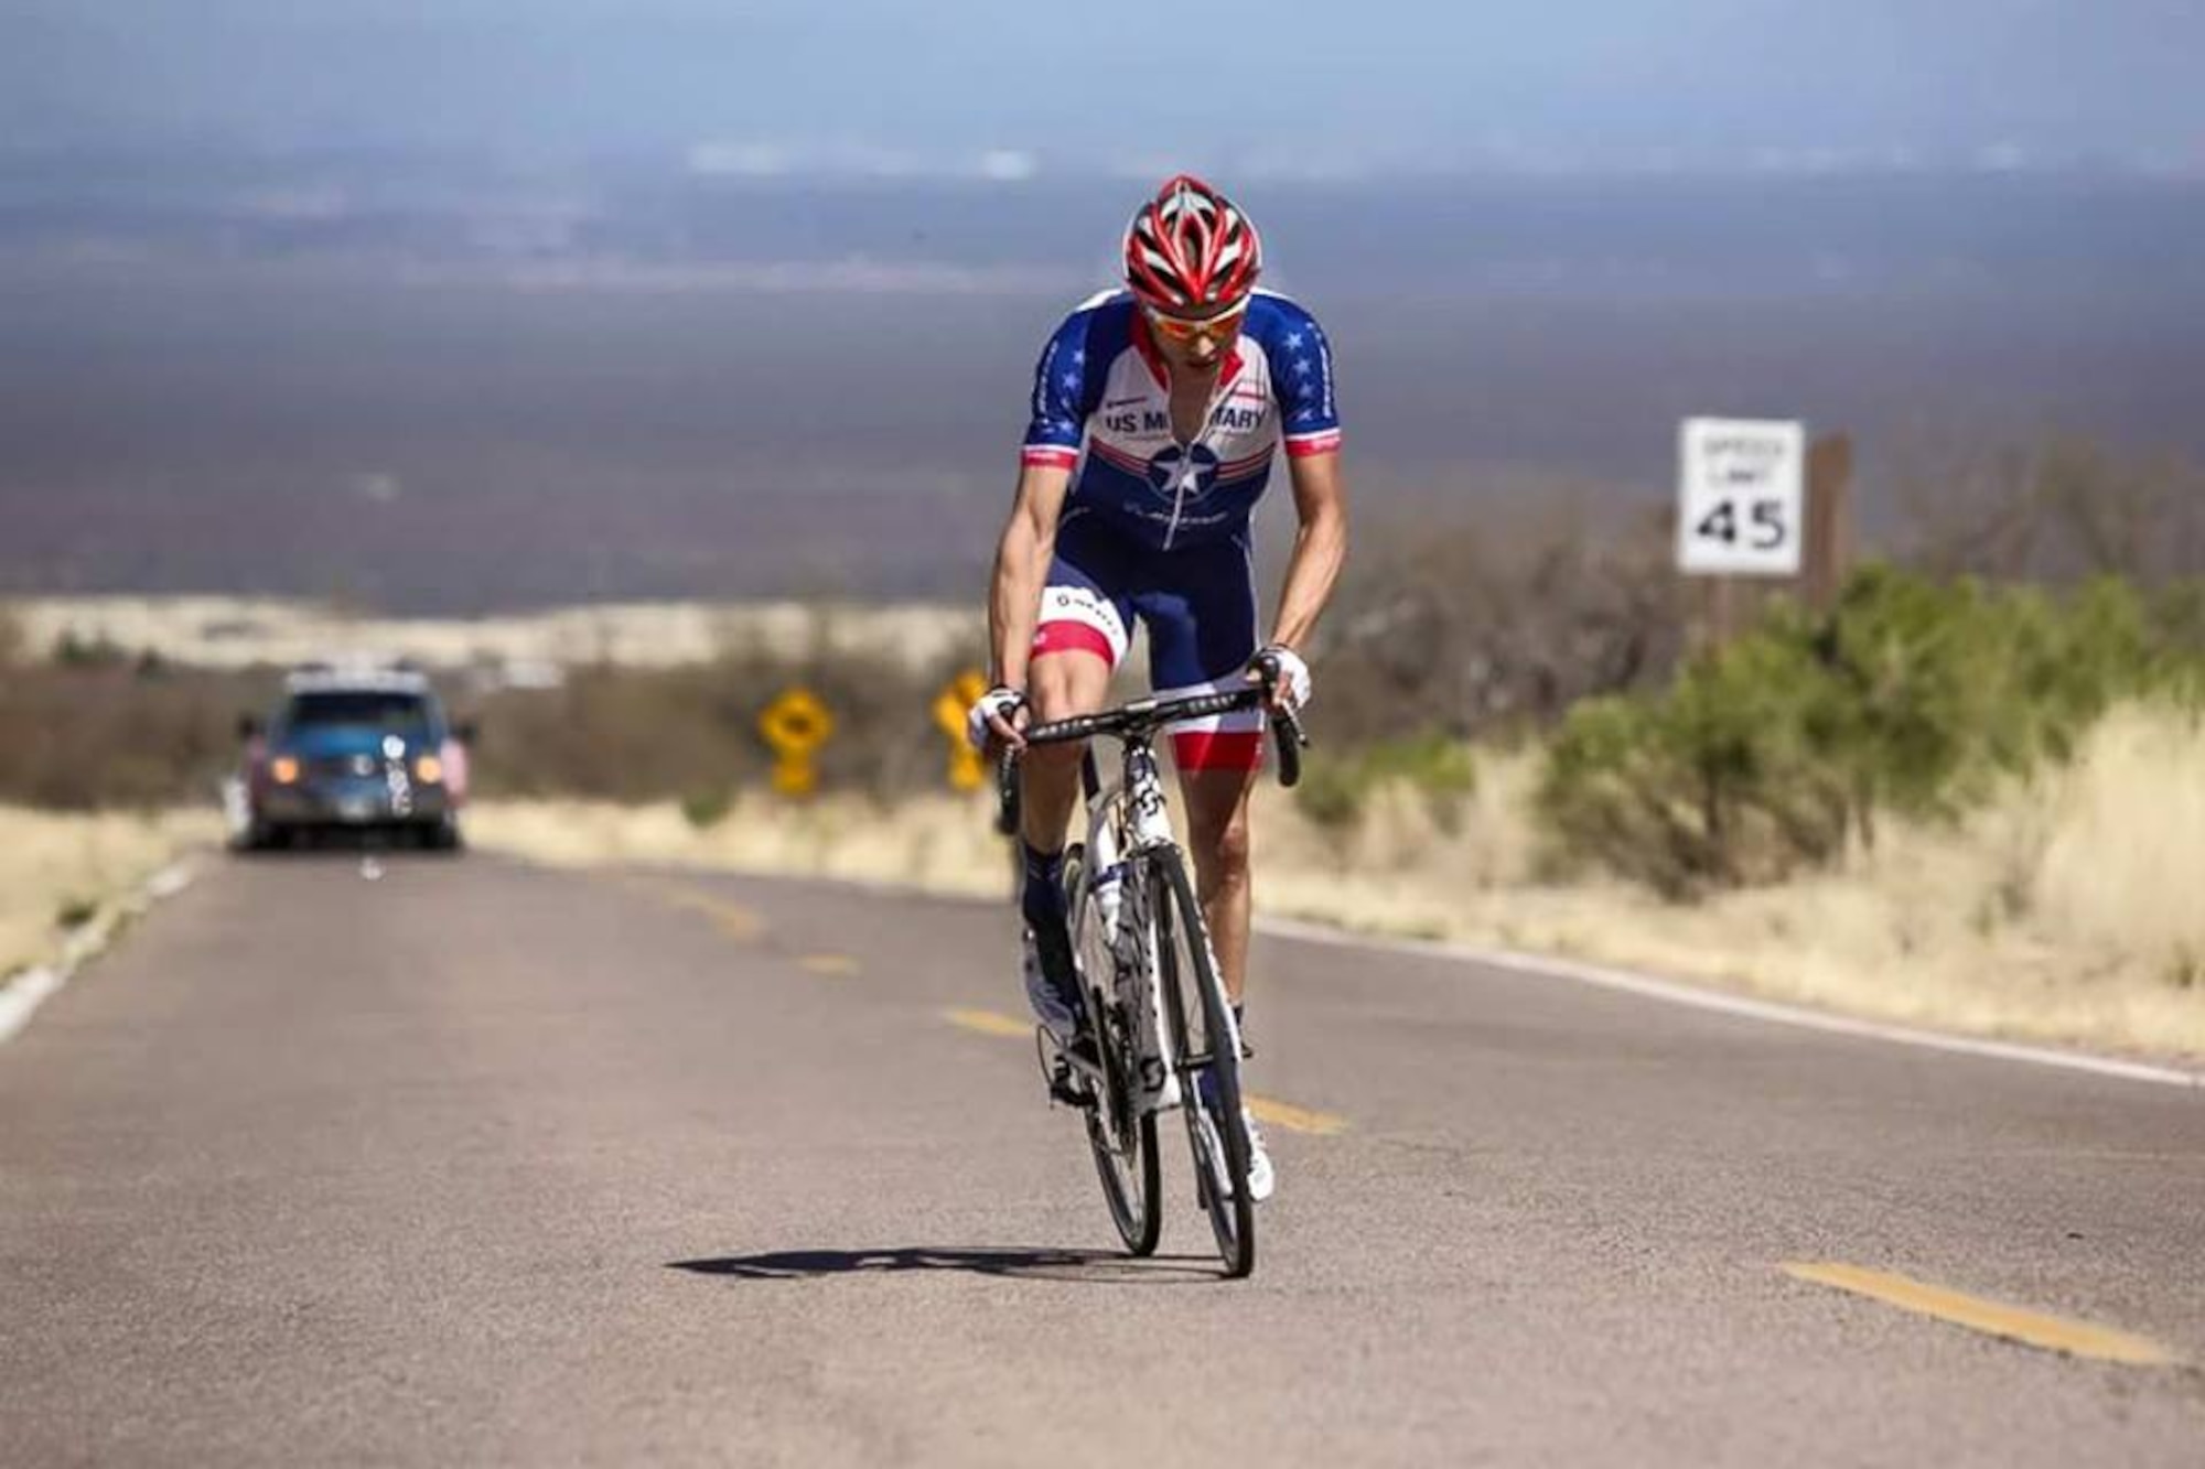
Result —
[[[388,832],[456,851],[470,730],[412,668],[302,668],[267,721],[247,717],[236,840],[249,851],[322,832]]]

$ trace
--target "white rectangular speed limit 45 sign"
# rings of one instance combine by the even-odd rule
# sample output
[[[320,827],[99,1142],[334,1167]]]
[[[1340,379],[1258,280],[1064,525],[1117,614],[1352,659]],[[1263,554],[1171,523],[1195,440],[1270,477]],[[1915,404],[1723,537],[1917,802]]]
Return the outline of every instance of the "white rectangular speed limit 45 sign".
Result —
[[[1685,419],[1676,565],[1689,576],[1799,576],[1806,426]]]

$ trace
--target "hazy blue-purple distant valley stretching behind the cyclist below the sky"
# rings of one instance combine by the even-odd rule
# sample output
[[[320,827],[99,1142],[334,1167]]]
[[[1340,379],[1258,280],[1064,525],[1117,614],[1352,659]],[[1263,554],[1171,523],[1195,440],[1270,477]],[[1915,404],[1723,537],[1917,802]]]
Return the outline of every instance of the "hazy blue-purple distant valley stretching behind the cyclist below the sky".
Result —
[[[0,168],[0,593],[977,596],[1032,357],[1136,187],[348,168],[320,192]],[[2205,452],[2179,247],[2205,185],[1259,203],[1274,282],[1334,335],[1374,518],[1658,498],[1687,412],[1854,430],[1872,514],[1879,476],[2046,428]]]

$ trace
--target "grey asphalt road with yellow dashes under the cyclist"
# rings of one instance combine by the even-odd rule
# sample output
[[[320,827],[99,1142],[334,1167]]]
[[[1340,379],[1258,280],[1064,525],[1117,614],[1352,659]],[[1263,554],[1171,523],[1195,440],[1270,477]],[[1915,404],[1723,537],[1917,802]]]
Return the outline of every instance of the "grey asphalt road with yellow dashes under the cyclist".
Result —
[[[1177,1143],[1114,1255],[1010,937],[209,862],[0,1048],[0,1460],[2205,1465],[2205,1092],[1263,940],[1226,1284]]]

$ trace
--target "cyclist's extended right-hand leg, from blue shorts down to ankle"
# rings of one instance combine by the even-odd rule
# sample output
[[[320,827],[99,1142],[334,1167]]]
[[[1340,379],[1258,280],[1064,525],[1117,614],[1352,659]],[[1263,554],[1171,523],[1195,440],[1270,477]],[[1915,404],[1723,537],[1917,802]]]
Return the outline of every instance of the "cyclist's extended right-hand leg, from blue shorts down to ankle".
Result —
[[[1255,569],[1239,540],[1188,547],[1153,565],[1136,600],[1149,626],[1158,693],[1237,688],[1255,657]],[[1173,726],[1186,849],[1202,922],[1235,1008],[1248,975],[1248,794],[1263,759],[1263,715],[1241,710]]]

